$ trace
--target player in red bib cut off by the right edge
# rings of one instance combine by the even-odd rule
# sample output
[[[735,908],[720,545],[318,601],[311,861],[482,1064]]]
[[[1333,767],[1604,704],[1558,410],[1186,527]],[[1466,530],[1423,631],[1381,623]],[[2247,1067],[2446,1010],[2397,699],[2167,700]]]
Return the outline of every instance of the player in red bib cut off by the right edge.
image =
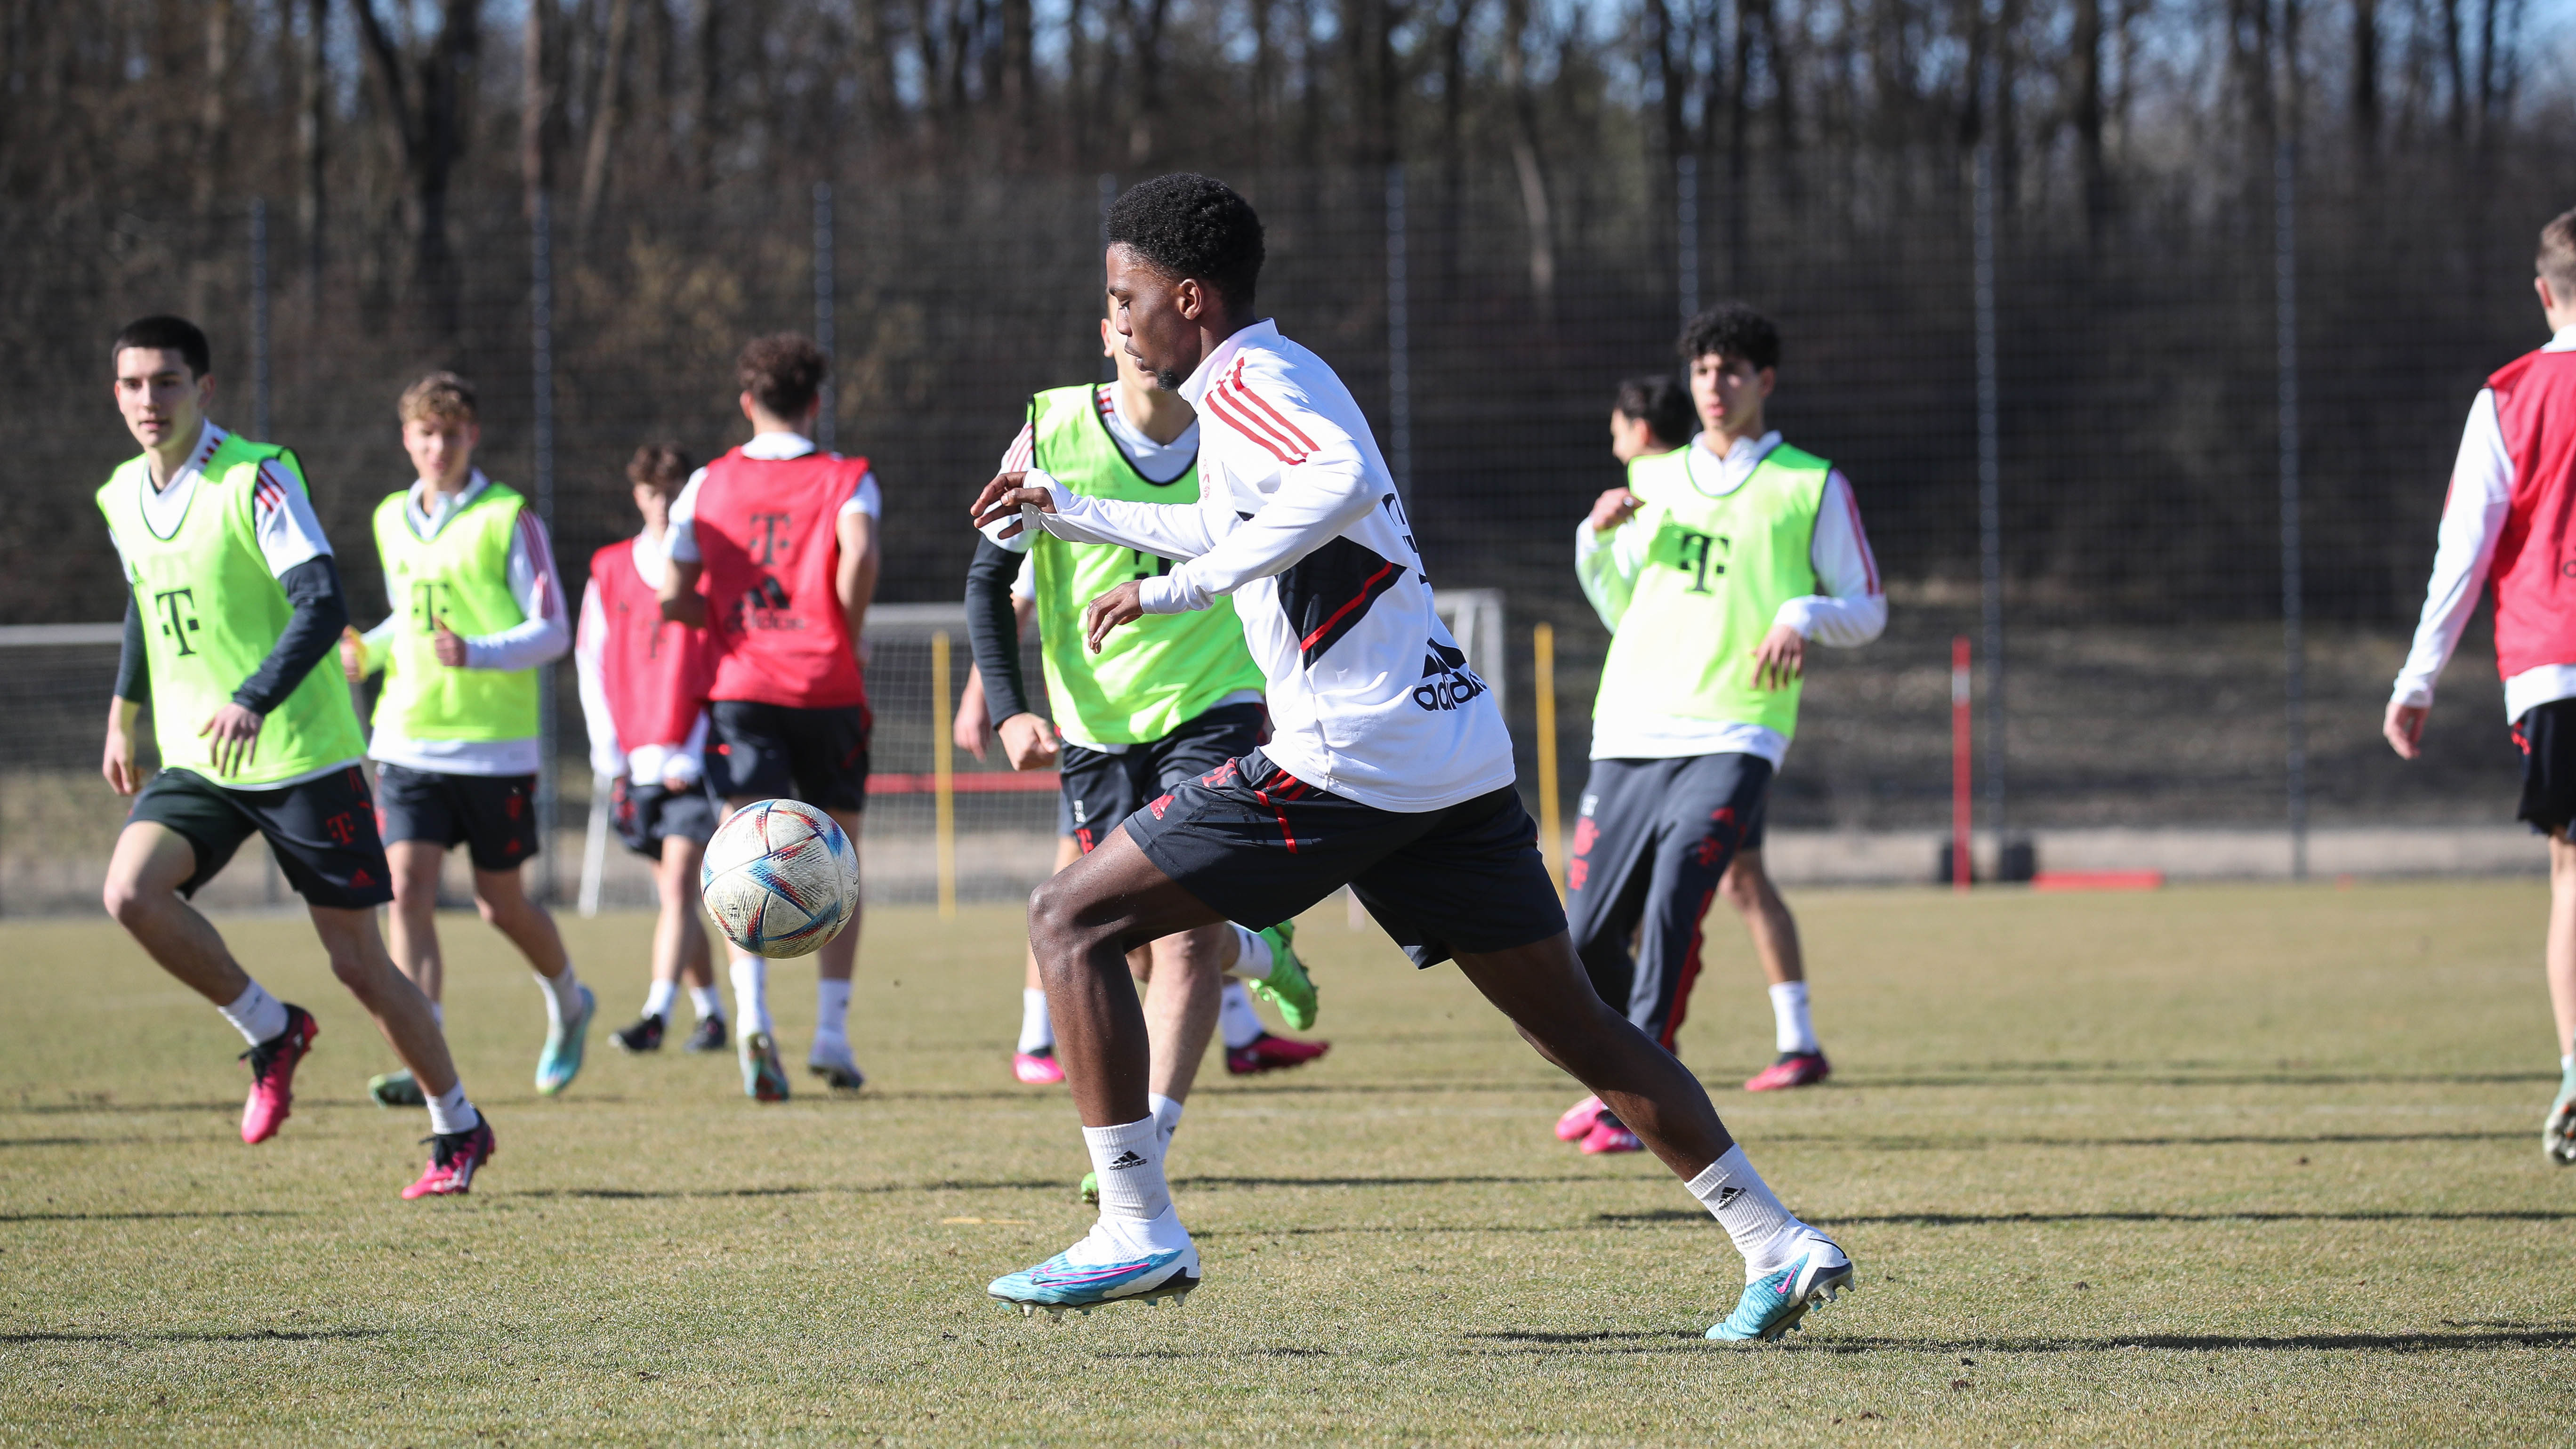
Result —
[[[2576,1165],[2576,603],[2561,559],[2576,557],[2576,211],[2540,229],[2540,315],[2550,340],[2486,379],[2450,469],[2442,541],[2424,619],[2398,670],[2380,732],[2424,753],[2432,683],[2460,647],[2478,596],[2496,590],[2496,673],[2504,719],[2522,745],[2522,807],[2550,838],[2550,928],[2543,962],[2558,1016],[2558,1101],[2540,1150]]]

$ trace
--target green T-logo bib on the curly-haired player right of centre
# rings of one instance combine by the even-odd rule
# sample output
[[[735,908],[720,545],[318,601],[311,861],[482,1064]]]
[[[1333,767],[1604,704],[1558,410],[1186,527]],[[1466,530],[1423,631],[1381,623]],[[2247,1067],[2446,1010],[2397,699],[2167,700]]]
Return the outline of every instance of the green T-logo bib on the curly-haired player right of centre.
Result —
[[[1708,498],[1690,480],[1690,449],[1628,464],[1646,529],[1628,614],[1610,637],[1595,719],[1664,714],[1798,732],[1798,694],[1754,683],[1754,645],[1790,598],[1816,593],[1816,511],[1834,464],[1772,449],[1744,487]]]

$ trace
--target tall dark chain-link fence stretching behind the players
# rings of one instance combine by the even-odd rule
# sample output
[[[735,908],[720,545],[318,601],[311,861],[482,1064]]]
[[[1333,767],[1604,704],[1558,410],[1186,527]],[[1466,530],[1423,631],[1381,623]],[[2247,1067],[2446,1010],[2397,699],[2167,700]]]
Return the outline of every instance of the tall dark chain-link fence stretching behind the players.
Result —
[[[2007,209],[1984,227],[1984,309],[1978,173],[1937,160],[1870,188],[1795,168],[1736,180],[1602,165],[1561,178],[1543,235],[1510,170],[1234,180],[1270,229],[1262,309],[1370,410],[1435,583],[1504,590],[1522,663],[1528,627],[1556,627],[1569,797],[1607,642],[1574,588],[1571,531],[1618,482],[1613,389],[1674,366],[1685,304],[1744,297],[1785,338],[1772,420],[1852,477],[1891,593],[1880,642],[1814,655],[1777,828],[1842,833],[1852,859],[1862,835],[1901,835],[1904,874],[1929,871],[1958,634],[1978,642],[1986,830],[2264,833],[2287,864],[2298,676],[2306,817],[2321,833],[2509,817],[2514,748],[2483,634],[2447,678],[2429,758],[2403,766],[2378,743],[2468,400],[2540,340],[2530,235],[2566,199],[2509,165],[2476,186],[2421,178],[2424,196],[2460,201],[2439,206],[2409,204],[2403,178],[2362,191],[2285,165],[2259,193],[2130,199],[2105,235]],[[482,464],[551,480],[556,552],[580,572],[634,529],[626,454],[677,438],[703,459],[739,441],[732,356],[788,327],[829,335],[829,441],[884,480],[881,598],[953,601],[974,547],[963,503],[1025,397],[1103,374],[1100,224],[1115,183],[781,188],[605,206],[587,232],[459,204],[435,271],[381,214],[335,217],[340,242],[319,266],[240,209],[15,217],[0,227],[13,255],[0,325],[15,335],[0,446],[26,477],[0,498],[0,621],[121,608],[90,508],[131,451],[103,345],[152,309],[214,335],[216,418],[265,420],[307,464],[361,624],[384,614],[366,516],[410,480],[394,394],[420,369],[479,382]],[[958,639],[961,678],[963,655]],[[1520,670],[1507,701],[1525,763],[1528,681]],[[10,691],[8,799],[44,797],[31,773],[93,768],[103,696],[106,676]],[[577,833],[587,771],[569,678],[556,696],[562,822]],[[1522,779],[1535,789],[1535,771]],[[886,802],[889,817],[909,810]],[[5,853],[59,859],[46,835],[64,817],[31,810],[8,804]],[[2367,864],[2318,856],[2318,869]]]

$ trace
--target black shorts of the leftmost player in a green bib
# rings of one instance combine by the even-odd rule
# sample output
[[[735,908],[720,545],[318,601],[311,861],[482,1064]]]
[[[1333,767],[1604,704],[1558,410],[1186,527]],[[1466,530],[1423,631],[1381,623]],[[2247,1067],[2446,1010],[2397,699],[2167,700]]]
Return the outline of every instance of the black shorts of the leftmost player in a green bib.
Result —
[[[312,905],[366,910],[394,900],[394,869],[384,864],[363,766],[278,789],[227,789],[193,771],[162,771],[134,797],[126,825],[137,820],[196,848],[196,874],[180,882],[180,895],[196,895],[242,841],[263,835],[286,884]]]

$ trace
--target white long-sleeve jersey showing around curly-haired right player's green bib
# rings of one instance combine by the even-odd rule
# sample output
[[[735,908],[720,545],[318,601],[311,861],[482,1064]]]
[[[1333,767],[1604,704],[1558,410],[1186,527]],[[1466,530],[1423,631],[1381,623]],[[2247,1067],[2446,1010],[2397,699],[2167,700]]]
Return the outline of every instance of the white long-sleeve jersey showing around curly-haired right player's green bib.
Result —
[[[1723,456],[1710,446],[1708,433],[1690,441],[1690,482],[1710,498],[1726,498],[1752,480],[1754,467],[1780,446],[1780,433],[1736,438]],[[1628,596],[1638,570],[1646,567],[1643,529],[1620,526],[1595,534],[1592,521],[1574,526],[1574,578],[1584,585],[1584,598],[1600,614],[1602,627],[1618,634],[1628,614]],[[1888,627],[1888,590],[1878,583],[1878,557],[1870,552],[1870,534],[1860,526],[1860,500],[1852,480],[1834,469],[1824,480],[1824,500],[1816,511],[1816,536],[1808,544],[1808,565],[1816,570],[1819,593],[1780,601],[1772,624],[1795,629],[1798,637],[1842,650],[1868,645]],[[1780,768],[1788,758],[1788,737],[1767,724],[1734,719],[1690,719],[1682,714],[1615,714],[1592,722],[1595,761],[1680,761],[1690,755],[1759,755]]]

